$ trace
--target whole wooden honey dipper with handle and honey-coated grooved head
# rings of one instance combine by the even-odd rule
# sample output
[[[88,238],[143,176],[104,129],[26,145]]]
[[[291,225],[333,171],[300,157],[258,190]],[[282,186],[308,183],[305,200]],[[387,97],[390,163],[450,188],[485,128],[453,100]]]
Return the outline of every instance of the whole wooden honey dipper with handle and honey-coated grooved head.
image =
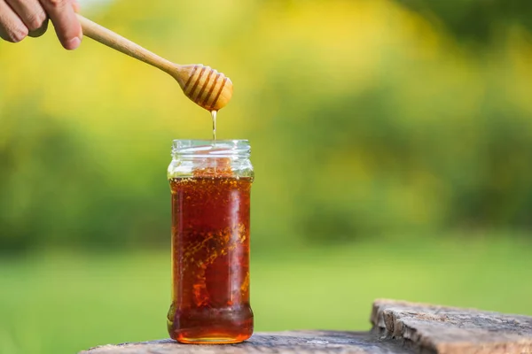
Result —
[[[204,65],[177,65],[80,14],[77,17],[83,35],[172,75],[184,95],[207,111],[218,111],[231,100],[232,82],[223,73]]]

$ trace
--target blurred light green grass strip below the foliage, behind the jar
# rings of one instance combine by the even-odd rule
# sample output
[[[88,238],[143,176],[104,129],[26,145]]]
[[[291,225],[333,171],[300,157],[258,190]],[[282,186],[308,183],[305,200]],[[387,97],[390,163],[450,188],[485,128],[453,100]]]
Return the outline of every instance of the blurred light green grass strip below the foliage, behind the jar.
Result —
[[[508,234],[396,237],[340,249],[279,244],[275,254],[253,257],[255,329],[366,330],[377,297],[532,315],[530,246]],[[0,353],[167,337],[169,269],[167,251],[4,258]]]

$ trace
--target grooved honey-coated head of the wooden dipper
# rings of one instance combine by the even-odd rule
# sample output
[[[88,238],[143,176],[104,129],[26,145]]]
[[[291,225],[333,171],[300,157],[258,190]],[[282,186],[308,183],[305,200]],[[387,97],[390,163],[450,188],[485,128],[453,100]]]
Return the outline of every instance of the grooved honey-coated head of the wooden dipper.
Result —
[[[218,111],[231,100],[232,82],[223,73],[204,65],[179,66],[178,73],[184,95],[207,111]]]

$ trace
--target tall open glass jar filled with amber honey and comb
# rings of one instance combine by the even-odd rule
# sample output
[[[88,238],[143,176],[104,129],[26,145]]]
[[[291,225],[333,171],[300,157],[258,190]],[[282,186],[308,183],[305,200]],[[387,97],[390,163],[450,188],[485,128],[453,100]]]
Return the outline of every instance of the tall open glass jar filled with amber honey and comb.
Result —
[[[234,343],[253,333],[249,212],[254,179],[246,140],[176,140],[172,193],[172,304],[178,342]]]

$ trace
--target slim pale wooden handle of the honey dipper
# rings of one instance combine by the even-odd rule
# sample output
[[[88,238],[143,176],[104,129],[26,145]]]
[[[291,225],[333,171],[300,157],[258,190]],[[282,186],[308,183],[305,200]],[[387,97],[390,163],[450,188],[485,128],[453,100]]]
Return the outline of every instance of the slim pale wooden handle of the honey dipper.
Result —
[[[100,42],[107,47],[118,50],[129,57],[136,58],[146,64],[153,65],[166,73],[175,73],[176,65],[167,59],[160,58],[150,50],[146,50],[135,42],[131,42],[121,35],[115,34],[106,27],[85,19],[82,15],[76,14],[82,24],[83,35]]]

